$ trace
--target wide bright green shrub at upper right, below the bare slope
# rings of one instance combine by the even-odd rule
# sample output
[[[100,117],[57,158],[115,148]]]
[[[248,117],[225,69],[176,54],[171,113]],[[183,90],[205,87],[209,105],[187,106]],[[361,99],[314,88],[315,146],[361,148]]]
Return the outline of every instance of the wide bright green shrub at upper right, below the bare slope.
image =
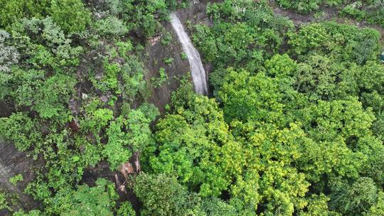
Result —
[[[379,40],[380,33],[373,28],[335,22],[311,23],[299,32],[289,34],[289,44],[299,58],[316,53],[358,64],[377,58]]]

